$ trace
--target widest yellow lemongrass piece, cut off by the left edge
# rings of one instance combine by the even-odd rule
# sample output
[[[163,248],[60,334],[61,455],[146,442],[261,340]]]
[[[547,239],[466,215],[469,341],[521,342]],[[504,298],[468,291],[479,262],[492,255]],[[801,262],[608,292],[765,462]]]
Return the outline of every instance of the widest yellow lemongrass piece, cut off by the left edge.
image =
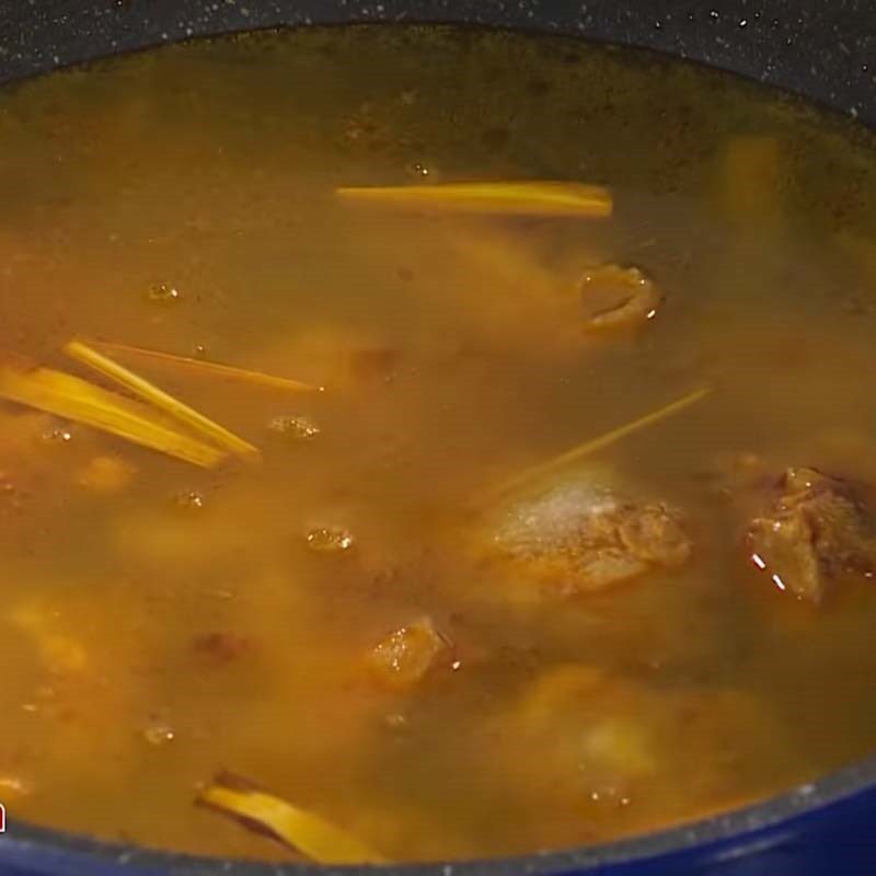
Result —
[[[195,465],[209,469],[228,456],[174,431],[137,402],[50,368],[3,362],[0,399],[91,426]]]

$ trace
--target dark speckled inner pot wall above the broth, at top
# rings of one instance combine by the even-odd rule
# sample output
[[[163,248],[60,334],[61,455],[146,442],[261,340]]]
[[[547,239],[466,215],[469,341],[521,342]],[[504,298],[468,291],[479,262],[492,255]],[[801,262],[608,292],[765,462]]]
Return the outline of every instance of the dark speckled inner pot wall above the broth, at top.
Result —
[[[0,81],[191,36],[348,21],[472,22],[644,46],[876,125],[876,14],[858,0],[2,0]]]

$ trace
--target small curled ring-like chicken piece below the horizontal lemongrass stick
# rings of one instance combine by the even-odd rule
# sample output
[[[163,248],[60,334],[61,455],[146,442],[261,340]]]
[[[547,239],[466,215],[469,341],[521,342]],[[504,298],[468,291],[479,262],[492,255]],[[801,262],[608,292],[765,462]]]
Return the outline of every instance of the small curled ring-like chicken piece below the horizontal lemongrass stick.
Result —
[[[601,265],[581,278],[585,331],[631,328],[652,320],[660,304],[654,281],[636,267]]]

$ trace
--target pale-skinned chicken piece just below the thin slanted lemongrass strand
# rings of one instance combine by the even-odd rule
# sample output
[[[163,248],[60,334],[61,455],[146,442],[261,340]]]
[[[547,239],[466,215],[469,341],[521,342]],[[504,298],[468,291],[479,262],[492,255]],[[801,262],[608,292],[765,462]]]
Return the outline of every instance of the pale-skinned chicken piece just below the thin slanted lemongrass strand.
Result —
[[[499,555],[564,592],[601,590],[691,554],[681,515],[585,481],[512,504],[493,543]]]

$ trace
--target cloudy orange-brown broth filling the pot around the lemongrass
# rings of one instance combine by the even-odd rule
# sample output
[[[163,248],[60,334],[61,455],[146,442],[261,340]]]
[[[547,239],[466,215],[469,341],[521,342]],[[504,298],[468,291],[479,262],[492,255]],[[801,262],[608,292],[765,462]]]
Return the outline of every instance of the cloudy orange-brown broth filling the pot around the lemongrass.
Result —
[[[261,451],[201,469],[2,407],[15,818],[266,860],[495,856],[873,751],[868,131],[638,51],[361,26],[25,82],[0,138],[3,348],[101,382],[61,350],[112,342]],[[335,196],[498,180],[606,186],[612,215]],[[641,324],[599,323],[621,308]],[[226,770],[296,807],[266,804],[298,851],[195,805]]]

